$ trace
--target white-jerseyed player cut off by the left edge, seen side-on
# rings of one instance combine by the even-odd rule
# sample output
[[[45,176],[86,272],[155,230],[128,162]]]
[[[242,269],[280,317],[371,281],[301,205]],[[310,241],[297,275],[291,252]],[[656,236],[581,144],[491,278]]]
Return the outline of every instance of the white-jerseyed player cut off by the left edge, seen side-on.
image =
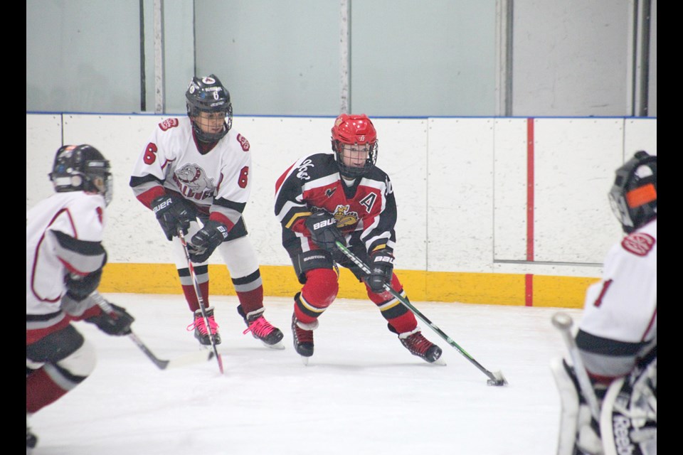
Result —
[[[61,147],[50,179],[56,193],[26,212],[26,451],[37,438],[28,417],[63,397],[95,368],[95,349],[71,321],[105,333],[130,332],[133,317],[97,290],[107,252],[105,209],[112,197],[109,161],[94,147]]]

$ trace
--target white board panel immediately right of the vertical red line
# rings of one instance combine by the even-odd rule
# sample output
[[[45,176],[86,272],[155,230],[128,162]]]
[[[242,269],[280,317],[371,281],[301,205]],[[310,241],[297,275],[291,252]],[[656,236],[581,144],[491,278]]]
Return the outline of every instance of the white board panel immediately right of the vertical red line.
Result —
[[[608,201],[622,119],[534,120],[534,259],[601,263],[621,227]]]

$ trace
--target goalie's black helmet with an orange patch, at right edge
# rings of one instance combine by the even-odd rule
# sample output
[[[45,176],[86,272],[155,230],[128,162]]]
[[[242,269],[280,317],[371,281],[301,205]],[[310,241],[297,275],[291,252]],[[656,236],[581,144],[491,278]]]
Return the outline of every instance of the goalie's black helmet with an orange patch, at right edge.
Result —
[[[657,217],[657,155],[637,151],[615,173],[610,205],[624,232],[630,233]]]

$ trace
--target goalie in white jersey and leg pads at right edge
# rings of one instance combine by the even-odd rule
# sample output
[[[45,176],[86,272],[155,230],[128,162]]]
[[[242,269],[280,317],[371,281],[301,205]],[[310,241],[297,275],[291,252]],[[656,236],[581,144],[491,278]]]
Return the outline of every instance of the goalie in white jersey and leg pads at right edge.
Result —
[[[551,364],[562,405],[558,455],[657,454],[657,156],[637,151],[617,169],[609,198],[627,235],[586,292],[575,336],[586,371]],[[592,387],[582,390],[577,375],[586,373]]]

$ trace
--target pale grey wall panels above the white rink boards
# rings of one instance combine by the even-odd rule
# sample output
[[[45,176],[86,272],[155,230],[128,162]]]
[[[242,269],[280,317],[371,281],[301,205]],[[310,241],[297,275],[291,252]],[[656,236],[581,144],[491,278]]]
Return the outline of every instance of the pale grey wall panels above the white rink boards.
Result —
[[[645,0],[347,1],[354,112],[637,115],[635,40]],[[161,92],[159,113],[182,113],[191,76],[215,73],[235,114],[339,113],[344,1],[159,3],[163,49],[155,55],[154,0],[27,0],[26,110],[155,112]],[[657,1],[651,5],[646,112],[656,117]],[[507,11],[511,33],[501,41]],[[497,103],[506,93],[510,112]]]

